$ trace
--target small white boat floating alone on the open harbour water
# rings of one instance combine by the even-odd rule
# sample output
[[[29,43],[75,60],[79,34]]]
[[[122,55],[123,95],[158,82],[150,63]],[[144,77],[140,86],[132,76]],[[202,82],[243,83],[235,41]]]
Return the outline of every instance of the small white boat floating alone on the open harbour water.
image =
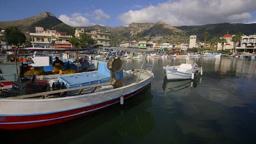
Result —
[[[168,80],[194,79],[197,75],[203,74],[203,69],[196,63],[182,63],[180,66],[164,66]]]

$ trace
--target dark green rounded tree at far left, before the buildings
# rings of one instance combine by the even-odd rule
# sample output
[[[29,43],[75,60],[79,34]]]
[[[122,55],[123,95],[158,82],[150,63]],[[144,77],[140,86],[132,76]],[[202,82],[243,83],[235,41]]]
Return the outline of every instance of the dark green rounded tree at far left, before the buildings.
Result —
[[[5,40],[8,44],[14,44],[19,47],[26,42],[26,39],[26,35],[17,27],[10,26],[5,29]]]

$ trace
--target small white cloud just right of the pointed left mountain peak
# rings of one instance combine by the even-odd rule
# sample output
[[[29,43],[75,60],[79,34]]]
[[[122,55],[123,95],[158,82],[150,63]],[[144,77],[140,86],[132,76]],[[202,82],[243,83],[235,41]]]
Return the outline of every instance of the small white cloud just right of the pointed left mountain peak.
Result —
[[[95,25],[94,23],[91,23],[87,18],[80,16],[80,15],[72,15],[71,17],[61,14],[59,16],[59,20],[63,21],[63,23],[66,23],[67,25],[71,25],[74,27],[87,27]]]

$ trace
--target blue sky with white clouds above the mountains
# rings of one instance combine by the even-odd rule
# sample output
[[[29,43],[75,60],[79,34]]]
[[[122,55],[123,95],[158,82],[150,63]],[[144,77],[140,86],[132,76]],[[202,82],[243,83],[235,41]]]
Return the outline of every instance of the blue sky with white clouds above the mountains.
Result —
[[[51,12],[72,26],[127,26],[162,20],[173,26],[256,23],[256,0],[0,0],[0,21]]]

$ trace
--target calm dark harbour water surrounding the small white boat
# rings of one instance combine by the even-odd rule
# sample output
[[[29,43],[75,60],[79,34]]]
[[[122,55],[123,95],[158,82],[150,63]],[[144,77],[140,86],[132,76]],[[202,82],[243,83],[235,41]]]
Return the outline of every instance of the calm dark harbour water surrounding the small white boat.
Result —
[[[142,59],[124,60],[124,69]],[[196,81],[165,81],[162,66],[184,58],[147,59],[154,81],[134,98],[54,126],[1,131],[8,143],[256,143],[256,59],[190,58]]]

